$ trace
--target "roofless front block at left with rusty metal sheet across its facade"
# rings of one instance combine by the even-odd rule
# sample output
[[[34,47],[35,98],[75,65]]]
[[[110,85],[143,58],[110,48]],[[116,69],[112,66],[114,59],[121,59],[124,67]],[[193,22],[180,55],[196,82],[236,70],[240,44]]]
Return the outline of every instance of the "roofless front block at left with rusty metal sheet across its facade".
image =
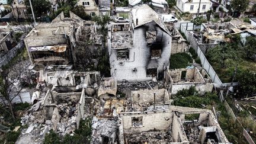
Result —
[[[67,65],[73,62],[73,25],[71,23],[39,24],[25,37],[24,43],[32,63]]]

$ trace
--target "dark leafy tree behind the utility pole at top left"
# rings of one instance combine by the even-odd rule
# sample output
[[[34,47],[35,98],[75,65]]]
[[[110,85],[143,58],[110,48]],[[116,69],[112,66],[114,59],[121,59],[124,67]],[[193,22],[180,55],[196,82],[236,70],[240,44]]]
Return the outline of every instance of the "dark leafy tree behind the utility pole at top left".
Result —
[[[51,8],[51,3],[47,0],[31,0],[31,4],[33,6],[34,15],[37,18],[47,14],[47,11],[50,11]],[[25,6],[27,7],[27,11],[31,13],[29,0],[25,0]]]

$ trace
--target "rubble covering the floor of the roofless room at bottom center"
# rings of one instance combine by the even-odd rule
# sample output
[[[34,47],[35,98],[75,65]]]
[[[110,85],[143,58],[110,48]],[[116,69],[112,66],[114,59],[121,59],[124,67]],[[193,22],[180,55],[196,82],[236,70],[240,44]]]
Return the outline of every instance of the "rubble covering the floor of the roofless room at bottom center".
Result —
[[[128,143],[171,143],[173,142],[171,130],[142,133],[126,133]]]

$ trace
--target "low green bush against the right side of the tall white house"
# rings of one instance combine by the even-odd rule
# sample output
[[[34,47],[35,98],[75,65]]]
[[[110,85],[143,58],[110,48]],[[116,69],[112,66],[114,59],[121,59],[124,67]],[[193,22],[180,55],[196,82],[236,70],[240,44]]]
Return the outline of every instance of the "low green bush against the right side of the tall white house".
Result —
[[[170,58],[170,69],[186,68],[189,63],[192,63],[193,59],[187,53],[175,53]]]

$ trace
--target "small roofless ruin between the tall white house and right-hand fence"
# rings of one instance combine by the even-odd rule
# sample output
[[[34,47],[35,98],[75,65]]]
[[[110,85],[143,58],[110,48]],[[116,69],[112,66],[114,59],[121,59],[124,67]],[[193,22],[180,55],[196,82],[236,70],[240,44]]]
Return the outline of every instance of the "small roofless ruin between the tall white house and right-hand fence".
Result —
[[[204,69],[200,71],[197,68],[171,69],[165,72],[165,83],[171,94],[190,87],[195,87],[200,94],[212,92],[212,80]]]

